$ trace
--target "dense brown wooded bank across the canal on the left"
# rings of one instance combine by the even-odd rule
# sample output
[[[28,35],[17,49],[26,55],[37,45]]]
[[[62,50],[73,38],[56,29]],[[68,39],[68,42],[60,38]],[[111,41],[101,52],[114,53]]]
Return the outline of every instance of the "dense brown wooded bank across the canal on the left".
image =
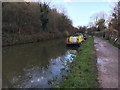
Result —
[[[65,37],[74,30],[68,16],[48,3],[2,3],[3,46]]]

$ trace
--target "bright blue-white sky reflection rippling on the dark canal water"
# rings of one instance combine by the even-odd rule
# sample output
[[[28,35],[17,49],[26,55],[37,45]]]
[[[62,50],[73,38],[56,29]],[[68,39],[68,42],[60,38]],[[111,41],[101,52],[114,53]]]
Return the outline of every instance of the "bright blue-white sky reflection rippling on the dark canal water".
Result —
[[[58,56],[55,59],[51,58],[48,68],[41,68],[40,66],[25,68],[23,70],[24,74],[15,75],[11,83],[15,88],[50,88],[51,85],[48,84],[48,80],[51,80],[56,75],[58,75],[60,79],[62,77],[61,69],[65,68],[64,65],[66,65],[68,61],[72,62],[75,53],[76,51],[72,51],[71,53],[67,52],[63,56]]]

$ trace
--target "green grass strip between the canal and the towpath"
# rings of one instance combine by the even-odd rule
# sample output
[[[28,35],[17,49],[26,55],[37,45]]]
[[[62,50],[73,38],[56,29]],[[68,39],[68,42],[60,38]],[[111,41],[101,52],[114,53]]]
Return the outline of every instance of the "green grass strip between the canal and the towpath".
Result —
[[[93,38],[90,37],[83,43],[76,58],[70,65],[70,72],[61,88],[97,88],[96,55]]]

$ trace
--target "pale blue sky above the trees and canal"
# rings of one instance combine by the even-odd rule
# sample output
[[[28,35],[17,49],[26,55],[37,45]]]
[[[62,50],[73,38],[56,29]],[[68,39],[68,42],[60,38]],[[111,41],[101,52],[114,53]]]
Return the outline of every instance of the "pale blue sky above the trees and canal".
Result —
[[[38,0],[33,0],[38,1]],[[72,20],[73,26],[84,26],[90,22],[90,17],[104,12],[109,16],[117,0],[39,0],[50,2],[51,8],[64,12]]]

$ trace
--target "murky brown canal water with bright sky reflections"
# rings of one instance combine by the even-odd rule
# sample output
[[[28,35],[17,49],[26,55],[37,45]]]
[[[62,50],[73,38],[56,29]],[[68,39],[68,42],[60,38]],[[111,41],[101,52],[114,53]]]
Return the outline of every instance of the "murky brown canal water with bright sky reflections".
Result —
[[[53,79],[62,82],[76,50],[65,39],[4,47],[2,50],[3,88],[51,88]],[[63,71],[64,70],[64,71]]]

